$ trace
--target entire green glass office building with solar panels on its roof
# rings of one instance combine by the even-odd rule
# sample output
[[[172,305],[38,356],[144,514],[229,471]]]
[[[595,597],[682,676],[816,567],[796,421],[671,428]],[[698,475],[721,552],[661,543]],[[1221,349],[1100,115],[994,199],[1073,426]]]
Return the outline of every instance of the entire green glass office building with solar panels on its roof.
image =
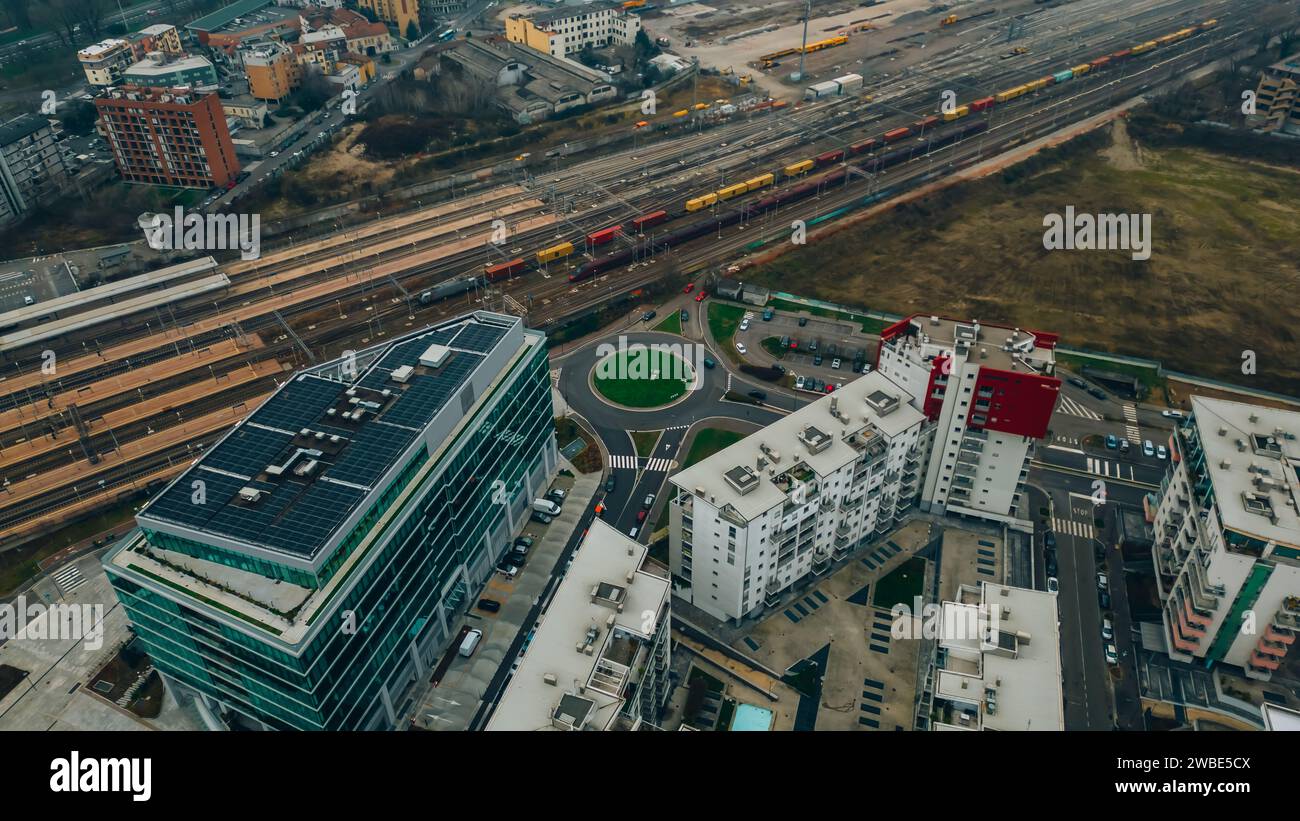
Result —
[[[558,466],[546,339],[477,312],[289,378],[104,566],[209,726],[404,724]]]

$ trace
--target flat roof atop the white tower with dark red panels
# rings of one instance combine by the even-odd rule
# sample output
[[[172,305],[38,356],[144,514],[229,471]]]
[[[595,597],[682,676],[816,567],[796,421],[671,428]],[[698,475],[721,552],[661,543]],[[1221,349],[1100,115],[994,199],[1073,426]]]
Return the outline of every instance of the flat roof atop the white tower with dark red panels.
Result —
[[[910,336],[920,346],[930,344],[948,351],[958,346],[967,347],[971,362],[998,370],[1041,373],[1048,364],[1056,361],[1056,334],[989,325],[979,320],[918,314],[887,327],[881,333],[881,342],[900,335]]]

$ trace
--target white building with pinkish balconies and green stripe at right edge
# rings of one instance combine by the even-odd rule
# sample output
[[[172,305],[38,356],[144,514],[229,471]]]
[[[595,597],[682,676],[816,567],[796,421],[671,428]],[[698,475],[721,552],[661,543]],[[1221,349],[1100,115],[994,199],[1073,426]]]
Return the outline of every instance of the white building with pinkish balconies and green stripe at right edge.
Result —
[[[1300,631],[1300,412],[1192,398],[1152,557],[1171,659],[1268,681]]]

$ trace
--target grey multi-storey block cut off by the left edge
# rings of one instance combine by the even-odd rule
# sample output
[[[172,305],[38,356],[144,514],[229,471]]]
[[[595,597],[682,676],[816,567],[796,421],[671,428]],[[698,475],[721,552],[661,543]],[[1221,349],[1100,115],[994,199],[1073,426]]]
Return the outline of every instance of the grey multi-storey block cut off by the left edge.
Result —
[[[56,199],[69,173],[49,121],[20,114],[0,123],[0,225],[10,225],[34,207]]]

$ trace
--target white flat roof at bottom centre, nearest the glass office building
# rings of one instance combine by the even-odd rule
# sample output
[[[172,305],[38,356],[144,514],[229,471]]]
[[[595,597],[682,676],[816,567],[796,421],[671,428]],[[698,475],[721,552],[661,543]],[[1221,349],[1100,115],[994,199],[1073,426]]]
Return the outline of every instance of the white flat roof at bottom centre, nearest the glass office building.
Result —
[[[646,551],[593,520],[488,730],[610,727],[668,607],[668,579],[645,569]]]

